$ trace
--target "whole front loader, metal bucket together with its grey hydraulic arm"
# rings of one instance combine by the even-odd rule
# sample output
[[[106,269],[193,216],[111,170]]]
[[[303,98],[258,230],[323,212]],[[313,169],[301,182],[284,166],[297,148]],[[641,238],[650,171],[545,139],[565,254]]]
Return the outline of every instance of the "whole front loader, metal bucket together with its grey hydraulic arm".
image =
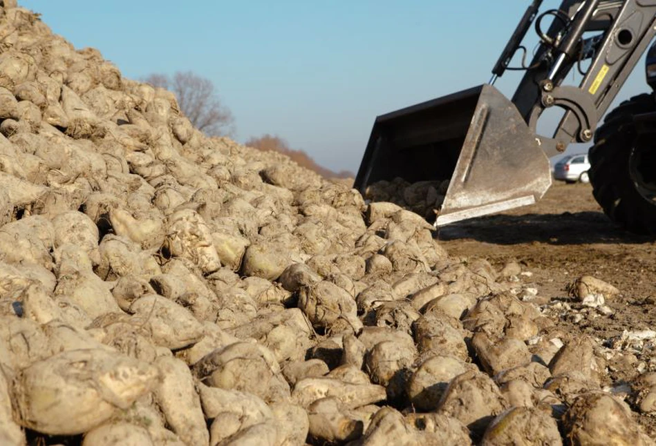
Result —
[[[564,0],[540,12],[542,3],[528,6],[489,84],[377,117],[355,188],[370,197],[396,177],[434,183],[446,191],[433,206],[435,226],[539,200],[552,181],[547,157],[592,139],[656,34],[656,0]],[[531,26],[540,39],[534,57],[509,66],[525,54]],[[512,99],[493,86],[507,70],[525,72]],[[564,85],[573,70],[583,79]],[[554,135],[538,135],[538,118],[554,106],[565,110]]]

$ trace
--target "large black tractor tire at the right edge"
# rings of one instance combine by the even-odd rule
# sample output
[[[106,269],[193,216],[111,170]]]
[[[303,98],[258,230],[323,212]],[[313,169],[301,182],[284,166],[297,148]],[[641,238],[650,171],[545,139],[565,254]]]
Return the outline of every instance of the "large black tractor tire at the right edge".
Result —
[[[638,135],[632,117],[653,111],[651,94],[624,101],[599,126],[588,154],[595,200],[610,220],[637,234],[656,233],[656,140]]]

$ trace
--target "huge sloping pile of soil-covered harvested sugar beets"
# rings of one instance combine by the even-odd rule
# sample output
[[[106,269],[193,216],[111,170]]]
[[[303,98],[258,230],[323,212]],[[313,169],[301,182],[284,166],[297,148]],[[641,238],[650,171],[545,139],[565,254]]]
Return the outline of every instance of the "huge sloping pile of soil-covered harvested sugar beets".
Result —
[[[0,36],[1,445],[653,444],[655,376],[616,396],[518,264],[203,136],[12,1]]]

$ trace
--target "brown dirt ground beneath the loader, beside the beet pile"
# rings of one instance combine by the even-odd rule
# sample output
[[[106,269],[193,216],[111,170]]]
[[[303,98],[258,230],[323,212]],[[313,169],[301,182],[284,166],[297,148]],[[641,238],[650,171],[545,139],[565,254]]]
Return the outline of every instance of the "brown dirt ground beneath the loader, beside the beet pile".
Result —
[[[533,206],[446,226],[438,236],[451,255],[485,258],[495,266],[517,260],[533,273],[526,282],[545,302],[571,302],[566,287],[581,275],[615,285],[621,295],[606,302],[612,315],[588,314],[577,320],[563,311],[554,318],[573,336],[587,333],[608,346],[624,330],[656,329],[656,242],[612,224],[589,184],[556,182]],[[653,342],[635,353],[609,368],[615,385],[630,381],[643,366],[656,369]],[[656,438],[656,420],[639,420]]]

